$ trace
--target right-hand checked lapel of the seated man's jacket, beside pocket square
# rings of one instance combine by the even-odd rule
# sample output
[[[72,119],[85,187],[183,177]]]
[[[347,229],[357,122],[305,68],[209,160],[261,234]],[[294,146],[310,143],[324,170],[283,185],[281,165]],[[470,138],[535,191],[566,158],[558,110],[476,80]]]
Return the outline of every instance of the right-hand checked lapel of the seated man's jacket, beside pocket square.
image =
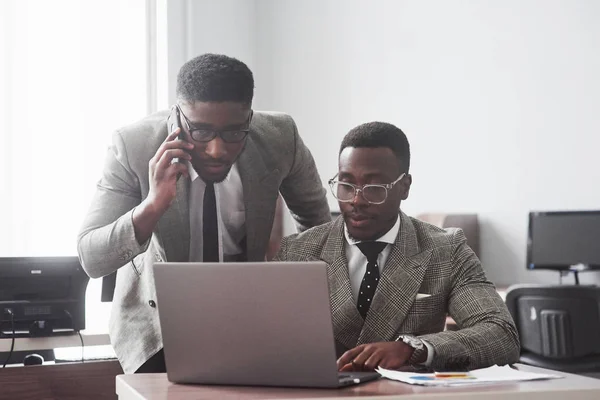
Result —
[[[396,339],[427,271],[432,251],[421,251],[412,221],[402,212],[400,219],[400,231],[383,267],[358,344]]]

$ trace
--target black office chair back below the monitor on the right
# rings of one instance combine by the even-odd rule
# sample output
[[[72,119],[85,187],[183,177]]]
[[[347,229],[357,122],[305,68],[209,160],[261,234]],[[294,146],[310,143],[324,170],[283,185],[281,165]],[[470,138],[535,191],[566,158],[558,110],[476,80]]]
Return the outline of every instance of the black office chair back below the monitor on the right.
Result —
[[[520,362],[571,373],[600,373],[600,288],[514,285],[506,305],[521,339]]]

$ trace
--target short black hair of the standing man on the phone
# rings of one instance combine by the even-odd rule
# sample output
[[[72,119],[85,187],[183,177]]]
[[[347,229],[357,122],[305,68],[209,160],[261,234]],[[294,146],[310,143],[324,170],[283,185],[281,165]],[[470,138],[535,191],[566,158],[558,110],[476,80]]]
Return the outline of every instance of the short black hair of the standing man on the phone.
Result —
[[[177,99],[234,101],[252,104],[254,77],[240,60],[221,54],[202,54],[183,64],[177,74]]]

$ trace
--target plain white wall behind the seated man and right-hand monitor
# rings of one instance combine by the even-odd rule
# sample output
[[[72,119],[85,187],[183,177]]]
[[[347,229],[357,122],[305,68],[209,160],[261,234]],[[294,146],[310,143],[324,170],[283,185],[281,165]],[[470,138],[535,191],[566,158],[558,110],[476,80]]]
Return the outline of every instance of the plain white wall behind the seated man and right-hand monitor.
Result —
[[[557,282],[525,270],[527,215],[600,208],[600,2],[256,7],[263,105],[295,117],[324,180],[350,128],[392,122],[412,145],[405,211],[476,212],[492,280]]]

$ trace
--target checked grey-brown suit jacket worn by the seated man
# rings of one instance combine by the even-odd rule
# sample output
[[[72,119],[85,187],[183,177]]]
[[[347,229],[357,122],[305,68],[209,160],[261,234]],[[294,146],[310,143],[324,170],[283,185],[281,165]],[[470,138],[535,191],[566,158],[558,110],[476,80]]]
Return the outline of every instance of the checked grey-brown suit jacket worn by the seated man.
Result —
[[[411,334],[433,346],[436,369],[516,362],[515,324],[462,231],[440,229],[402,212],[400,218],[365,320],[352,298],[342,217],[284,238],[276,259],[327,263],[338,349]],[[417,299],[417,293],[431,296]],[[447,313],[460,330],[444,331]]]

